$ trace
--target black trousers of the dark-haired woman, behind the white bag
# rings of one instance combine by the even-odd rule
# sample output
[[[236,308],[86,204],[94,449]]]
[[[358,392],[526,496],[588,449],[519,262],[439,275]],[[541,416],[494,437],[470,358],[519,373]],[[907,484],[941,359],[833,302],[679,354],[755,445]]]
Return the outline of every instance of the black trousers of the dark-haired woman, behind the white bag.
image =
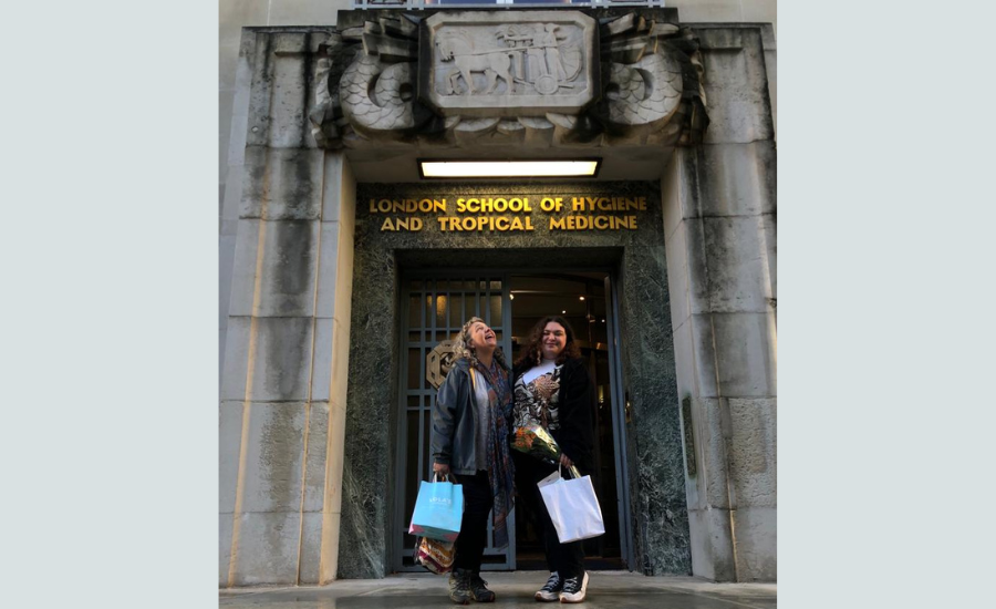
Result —
[[[540,495],[536,484],[557,471],[556,465],[549,465],[542,461],[523,453],[512,451],[512,460],[516,464],[516,491],[519,500],[531,514],[530,518],[537,531],[543,540],[543,551],[547,556],[547,566],[551,571],[557,571],[563,579],[584,574],[584,546],[582,541],[561,544],[557,537],[557,529],[547,504]],[[567,472],[567,469],[564,469]]]

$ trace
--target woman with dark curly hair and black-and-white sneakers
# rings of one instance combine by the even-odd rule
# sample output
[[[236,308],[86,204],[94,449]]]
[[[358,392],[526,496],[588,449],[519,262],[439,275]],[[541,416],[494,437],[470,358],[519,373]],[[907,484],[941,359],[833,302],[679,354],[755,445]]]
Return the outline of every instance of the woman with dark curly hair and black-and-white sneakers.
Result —
[[[559,464],[548,464],[513,452],[516,487],[527,508],[537,516],[550,578],[536,592],[541,601],[581,602],[588,589],[581,541],[561,544],[537,483],[560,465],[591,471],[592,409],[594,392],[581,349],[570,323],[560,316],[539,320],[512,369],[515,382],[513,429],[539,423],[560,445]]]

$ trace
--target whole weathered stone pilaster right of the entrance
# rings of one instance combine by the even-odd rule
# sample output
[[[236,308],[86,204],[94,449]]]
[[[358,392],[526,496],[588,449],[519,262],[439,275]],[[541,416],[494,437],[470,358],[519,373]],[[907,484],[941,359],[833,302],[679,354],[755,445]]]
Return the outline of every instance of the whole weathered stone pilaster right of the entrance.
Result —
[[[776,557],[776,146],[760,27],[693,28],[712,124],[664,190],[695,575],[771,581]],[[772,54],[768,54],[772,56]],[[689,454],[689,450],[694,450]]]

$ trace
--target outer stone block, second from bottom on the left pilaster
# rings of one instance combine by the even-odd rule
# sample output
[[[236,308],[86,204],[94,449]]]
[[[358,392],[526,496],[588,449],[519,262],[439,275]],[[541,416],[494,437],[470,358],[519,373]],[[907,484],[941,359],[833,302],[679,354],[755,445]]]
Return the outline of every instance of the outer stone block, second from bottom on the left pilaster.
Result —
[[[302,402],[249,405],[242,512],[301,508],[305,407]]]

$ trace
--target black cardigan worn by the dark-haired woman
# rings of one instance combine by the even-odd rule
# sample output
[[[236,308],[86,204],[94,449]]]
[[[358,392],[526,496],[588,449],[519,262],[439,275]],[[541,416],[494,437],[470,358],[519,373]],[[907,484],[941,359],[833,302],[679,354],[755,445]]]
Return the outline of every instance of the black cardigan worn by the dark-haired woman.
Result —
[[[515,379],[512,386],[518,383],[519,376],[531,368],[531,364],[526,363],[517,365],[512,371],[512,379]],[[595,403],[594,383],[591,381],[583,359],[572,358],[563,362],[557,400],[560,429],[550,432],[550,435],[578,467],[591,472],[594,446],[592,431],[592,412]]]

